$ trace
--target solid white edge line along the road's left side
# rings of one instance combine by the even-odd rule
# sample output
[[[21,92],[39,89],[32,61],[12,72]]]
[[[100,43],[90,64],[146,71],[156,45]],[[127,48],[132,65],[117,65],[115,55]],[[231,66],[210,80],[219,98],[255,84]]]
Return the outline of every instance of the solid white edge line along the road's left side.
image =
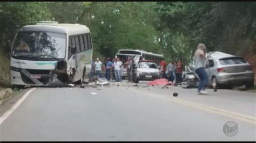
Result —
[[[29,96],[29,94],[35,90],[36,88],[32,88],[29,91],[27,91],[14,105],[11,106],[11,108],[6,111],[4,113],[4,115],[2,115],[2,117],[0,117],[0,125],[3,123],[3,121],[9,116],[11,115],[11,113],[18,108],[18,106],[25,100],[26,97]]]

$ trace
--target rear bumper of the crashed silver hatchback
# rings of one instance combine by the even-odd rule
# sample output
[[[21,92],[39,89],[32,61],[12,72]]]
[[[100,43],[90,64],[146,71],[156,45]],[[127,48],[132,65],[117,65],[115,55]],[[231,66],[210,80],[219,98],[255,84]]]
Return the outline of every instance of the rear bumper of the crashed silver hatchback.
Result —
[[[221,73],[216,76],[217,80],[221,84],[232,83],[239,84],[248,81],[254,81],[253,72],[243,72],[243,73]]]

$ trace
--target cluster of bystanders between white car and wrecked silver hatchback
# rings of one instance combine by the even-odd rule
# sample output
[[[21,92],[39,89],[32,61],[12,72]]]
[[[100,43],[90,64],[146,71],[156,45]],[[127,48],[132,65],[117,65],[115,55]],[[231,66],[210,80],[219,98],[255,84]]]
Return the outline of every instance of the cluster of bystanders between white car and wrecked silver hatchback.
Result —
[[[161,69],[161,78],[167,78],[165,73],[167,70],[167,74],[169,75],[167,79],[173,82],[174,85],[181,85],[182,71],[183,71],[183,62],[181,60],[172,61],[167,65],[167,63],[163,59],[160,62],[160,69]]]

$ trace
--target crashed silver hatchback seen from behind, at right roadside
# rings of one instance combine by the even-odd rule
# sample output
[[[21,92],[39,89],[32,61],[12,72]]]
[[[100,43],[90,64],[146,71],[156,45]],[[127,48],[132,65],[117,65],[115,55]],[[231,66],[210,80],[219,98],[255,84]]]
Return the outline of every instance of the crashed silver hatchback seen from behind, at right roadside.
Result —
[[[219,87],[220,84],[245,84],[254,87],[253,67],[241,56],[223,52],[210,52],[206,71],[208,86]]]

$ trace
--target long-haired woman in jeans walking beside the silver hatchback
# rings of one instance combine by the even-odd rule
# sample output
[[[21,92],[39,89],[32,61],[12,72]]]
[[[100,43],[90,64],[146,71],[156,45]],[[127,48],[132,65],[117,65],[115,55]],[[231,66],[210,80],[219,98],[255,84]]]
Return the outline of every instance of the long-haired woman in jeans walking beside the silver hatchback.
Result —
[[[200,78],[200,82],[198,85],[198,94],[208,94],[205,91],[208,75],[205,70],[207,58],[206,58],[206,46],[204,44],[199,44],[197,47],[197,51],[194,53],[195,63],[194,66],[196,67],[196,73]]]

